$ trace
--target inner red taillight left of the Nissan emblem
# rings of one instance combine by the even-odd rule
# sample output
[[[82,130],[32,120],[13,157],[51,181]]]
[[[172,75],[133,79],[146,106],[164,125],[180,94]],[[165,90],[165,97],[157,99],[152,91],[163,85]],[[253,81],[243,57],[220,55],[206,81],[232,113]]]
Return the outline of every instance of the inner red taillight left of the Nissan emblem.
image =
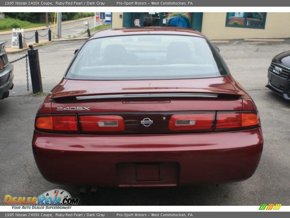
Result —
[[[80,115],[82,132],[118,132],[125,130],[124,120],[121,116],[107,115]]]

